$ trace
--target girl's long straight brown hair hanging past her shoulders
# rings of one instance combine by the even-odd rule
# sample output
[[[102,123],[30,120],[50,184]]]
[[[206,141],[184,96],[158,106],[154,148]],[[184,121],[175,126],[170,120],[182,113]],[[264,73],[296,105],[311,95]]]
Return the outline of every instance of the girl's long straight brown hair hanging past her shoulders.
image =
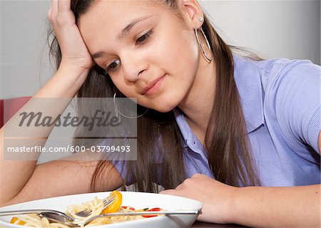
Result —
[[[71,10],[75,14],[76,21],[79,16],[86,14],[93,1],[71,1]],[[161,2],[177,12],[178,0],[161,0]],[[245,119],[234,81],[232,49],[235,47],[228,46],[220,38],[206,16],[203,30],[213,50],[217,76],[213,110],[205,135],[208,164],[215,179],[220,182],[233,186],[260,185],[251,159]],[[56,57],[58,68],[61,51],[55,37],[50,48],[51,54]],[[101,68],[94,66],[77,96],[111,98],[115,91],[116,86],[111,79],[104,75]],[[138,110],[140,108],[142,107],[138,105]],[[143,192],[157,192],[153,182],[158,182],[165,189],[175,188],[185,179],[181,139],[173,111],[160,113],[149,110],[142,118],[138,118],[137,160],[125,162],[127,170],[125,179],[131,177],[131,180],[136,182],[136,189]],[[156,160],[156,151],[162,156],[160,164]],[[108,162],[104,160],[98,163],[91,185],[93,191],[99,182],[103,182],[99,177],[103,176],[101,174],[106,172],[107,167]],[[158,180],[158,172],[161,173],[161,180]]]

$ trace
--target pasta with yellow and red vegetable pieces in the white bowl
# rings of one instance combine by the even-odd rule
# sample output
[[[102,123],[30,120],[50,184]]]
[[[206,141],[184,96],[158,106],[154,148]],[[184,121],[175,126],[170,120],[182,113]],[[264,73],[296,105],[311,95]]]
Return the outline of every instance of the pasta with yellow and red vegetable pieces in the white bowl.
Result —
[[[114,191],[111,194],[121,195],[120,192]],[[121,197],[120,197],[121,198]],[[119,199],[119,197],[118,197]],[[122,200],[122,199],[120,199]],[[108,214],[110,212],[141,212],[141,211],[160,211],[162,209],[160,208],[153,208],[153,209],[134,209],[133,207],[121,207],[121,202],[116,202],[117,200],[114,200],[113,204],[108,206],[106,209],[103,209],[103,200],[98,199],[95,197],[93,200],[88,202],[83,202],[82,204],[78,205],[69,205],[65,213],[73,217],[75,219],[79,219],[78,222],[75,222],[75,224],[78,224],[79,227],[83,227],[83,222],[87,219],[90,219],[91,217],[94,217],[99,214]],[[77,212],[81,212],[84,209],[91,209],[91,214],[88,217],[79,217],[76,215]],[[143,219],[147,217],[156,217],[157,215],[126,215],[126,216],[114,216],[114,217],[101,217],[98,219],[93,220],[89,224],[87,224],[85,227],[94,227],[102,224],[113,224],[116,222],[126,222],[129,220],[136,220],[136,219]],[[12,224],[20,224],[22,226],[28,226],[28,227],[39,227],[39,228],[69,228],[68,226],[64,224],[49,222],[49,219],[46,219],[45,217],[39,217],[37,214],[28,214],[26,216],[21,217],[13,217],[11,219]]]

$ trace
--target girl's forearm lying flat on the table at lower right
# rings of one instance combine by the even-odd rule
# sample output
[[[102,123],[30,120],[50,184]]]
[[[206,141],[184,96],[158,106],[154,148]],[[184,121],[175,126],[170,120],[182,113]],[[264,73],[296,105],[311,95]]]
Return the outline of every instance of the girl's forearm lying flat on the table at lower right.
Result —
[[[250,227],[320,227],[320,185],[242,187],[230,222]]]

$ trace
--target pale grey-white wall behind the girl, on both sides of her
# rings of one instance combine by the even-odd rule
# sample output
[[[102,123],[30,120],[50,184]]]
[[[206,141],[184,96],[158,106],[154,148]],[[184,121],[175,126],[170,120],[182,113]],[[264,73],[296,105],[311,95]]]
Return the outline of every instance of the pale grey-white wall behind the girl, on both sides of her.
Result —
[[[263,57],[320,64],[320,0],[200,1],[230,44]],[[52,75],[46,48],[50,1],[0,1],[0,98],[33,95]]]

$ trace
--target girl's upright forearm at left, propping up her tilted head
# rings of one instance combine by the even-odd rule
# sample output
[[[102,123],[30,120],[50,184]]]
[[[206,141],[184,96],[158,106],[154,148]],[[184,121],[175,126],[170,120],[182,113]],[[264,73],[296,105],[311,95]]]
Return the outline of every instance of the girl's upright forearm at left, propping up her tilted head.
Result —
[[[88,71],[62,66],[46,85],[0,129],[0,204],[8,202],[23,189],[33,175],[40,155],[40,152],[30,152],[28,157],[24,157],[22,153],[9,152],[9,147],[43,146],[54,128],[54,125],[36,126],[34,122],[28,125],[30,118],[26,118],[21,125],[22,117],[19,113],[28,115],[41,113],[41,116],[48,116],[55,120],[66,109],[87,75]],[[15,157],[11,158],[11,155]]]

